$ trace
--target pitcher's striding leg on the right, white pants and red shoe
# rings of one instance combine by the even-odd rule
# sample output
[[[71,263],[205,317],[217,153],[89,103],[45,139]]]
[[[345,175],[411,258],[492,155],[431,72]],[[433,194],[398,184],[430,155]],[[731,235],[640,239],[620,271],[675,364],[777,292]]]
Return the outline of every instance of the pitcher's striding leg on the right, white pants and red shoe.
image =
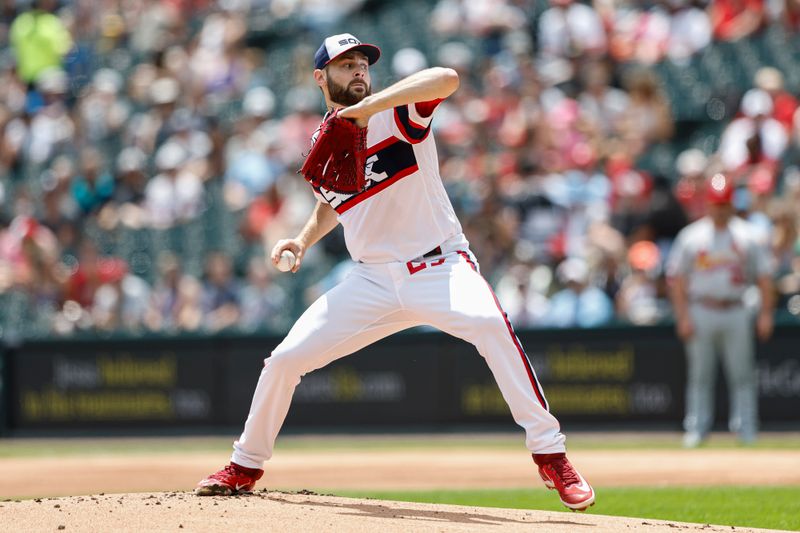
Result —
[[[593,505],[594,490],[567,459],[564,435],[533,365],[472,254],[449,254],[445,264],[412,274],[402,295],[421,321],[470,342],[486,359],[511,415],[525,429],[542,481],[558,490],[561,503],[577,511]]]

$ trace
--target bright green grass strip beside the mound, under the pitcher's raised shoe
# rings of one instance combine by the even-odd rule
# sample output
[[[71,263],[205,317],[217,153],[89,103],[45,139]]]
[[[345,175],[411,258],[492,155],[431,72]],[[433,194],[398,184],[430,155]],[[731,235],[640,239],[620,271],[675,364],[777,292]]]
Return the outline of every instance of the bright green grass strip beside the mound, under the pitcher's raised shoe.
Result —
[[[541,489],[336,491],[339,496],[480,507],[565,511]],[[798,487],[599,488],[587,513],[800,531]]]

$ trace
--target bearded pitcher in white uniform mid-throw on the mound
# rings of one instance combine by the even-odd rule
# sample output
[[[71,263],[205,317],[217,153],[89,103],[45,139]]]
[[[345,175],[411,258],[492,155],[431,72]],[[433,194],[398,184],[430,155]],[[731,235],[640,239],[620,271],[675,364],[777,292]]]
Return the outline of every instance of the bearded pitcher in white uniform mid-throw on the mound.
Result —
[[[318,201],[300,234],[279,241],[271,254],[278,265],[291,251],[296,272],[307,250],[342,224],[356,266],[265,360],[230,464],[202,480],[196,493],[230,495],[254,487],[305,374],[425,324],[477,348],[525,430],[545,485],[568,508],[585,510],[594,491],[567,460],[559,423],[480,274],[439,176],[431,120],[458,88],[458,74],[430,68],[372,94],[370,65],[379,57],[378,47],[350,34],[328,37],[319,47],[314,80],[329,111],[303,166]]]

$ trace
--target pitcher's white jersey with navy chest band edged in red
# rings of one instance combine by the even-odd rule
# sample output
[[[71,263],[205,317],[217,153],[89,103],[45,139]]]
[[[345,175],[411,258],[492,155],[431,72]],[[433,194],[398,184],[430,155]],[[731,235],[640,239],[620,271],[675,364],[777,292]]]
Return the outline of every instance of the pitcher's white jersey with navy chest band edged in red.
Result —
[[[338,213],[353,260],[408,261],[461,233],[431,135],[440,101],[397,106],[370,117],[362,192],[314,188],[317,198]]]

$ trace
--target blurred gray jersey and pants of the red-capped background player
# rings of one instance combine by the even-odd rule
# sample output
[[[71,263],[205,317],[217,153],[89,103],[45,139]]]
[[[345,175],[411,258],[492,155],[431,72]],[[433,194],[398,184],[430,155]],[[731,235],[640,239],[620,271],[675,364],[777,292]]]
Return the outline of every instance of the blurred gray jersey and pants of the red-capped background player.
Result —
[[[770,254],[748,222],[732,218],[714,227],[702,218],[685,227],[670,252],[667,272],[688,282],[689,313],[695,333],[686,343],[688,382],[684,429],[705,436],[714,421],[716,354],[722,352],[730,391],[731,431],[750,441],[758,431],[753,320],[745,290],[769,275]]]

